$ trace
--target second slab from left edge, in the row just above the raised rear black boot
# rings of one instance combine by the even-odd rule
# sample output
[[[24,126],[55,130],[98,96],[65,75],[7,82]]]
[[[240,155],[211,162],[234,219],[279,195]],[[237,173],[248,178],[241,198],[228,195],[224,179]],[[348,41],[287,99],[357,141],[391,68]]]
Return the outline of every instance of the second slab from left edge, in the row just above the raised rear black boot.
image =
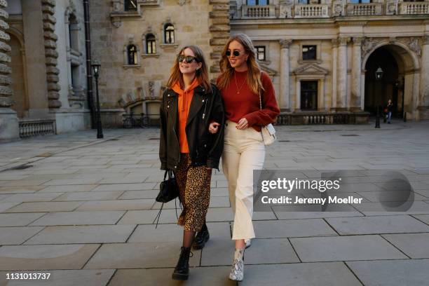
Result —
[[[32,226],[76,226],[88,224],[116,224],[125,211],[93,211],[93,212],[49,212],[35,220]],[[1,214],[0,214],[1,224]]]

